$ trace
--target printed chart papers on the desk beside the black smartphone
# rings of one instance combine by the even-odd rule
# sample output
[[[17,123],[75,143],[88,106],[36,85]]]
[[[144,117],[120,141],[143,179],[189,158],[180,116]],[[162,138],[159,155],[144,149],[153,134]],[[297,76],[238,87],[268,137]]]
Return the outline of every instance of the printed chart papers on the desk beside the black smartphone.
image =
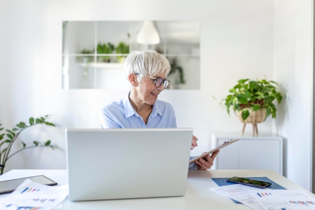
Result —
[[[261,189],[243,184],[209,188],[253,209],[315,209],[315,198],[303,190]]]

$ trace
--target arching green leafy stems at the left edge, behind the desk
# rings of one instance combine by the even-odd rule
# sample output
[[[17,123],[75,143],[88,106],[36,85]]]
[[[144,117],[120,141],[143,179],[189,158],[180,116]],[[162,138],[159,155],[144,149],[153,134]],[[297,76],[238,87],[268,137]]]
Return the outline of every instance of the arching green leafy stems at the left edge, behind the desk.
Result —
[[[46,124],[49,126],[55,126],[53,123],[47,121],[48,116],[49,115],[45,115],[44,117],[39,117],[36,119],[34,119],[34,117],[30,117],[29,125],[21,121],[19,124],[16,124],[16,127],[14,127],[12,130],[6,129],[5,130],[6,133],[0,134],[0,169],[1,169],[0,174],[4,173],[4,169],[5,169],[7,161],[11,157],[13,157],[14,155],[18,154],[19,152],[23,150],[31,149],[35,147],[50,147],[51,149],[57,148],[51,145],[50,140],[47,140],[46,142],[43,142],[43,143],[40,143],[38,141],[33,141],[32,146],[26,146],[26,144],[23,141],[21,141],[23,148],[13,153],[10,153],[12,145],[17,141],[19,135],[21,134],[23,130],[29,127],[38,125],[38,124]],[[4,128],[2,127],[2,124],[0,124],[0,131],[3,131],[3,130]]]

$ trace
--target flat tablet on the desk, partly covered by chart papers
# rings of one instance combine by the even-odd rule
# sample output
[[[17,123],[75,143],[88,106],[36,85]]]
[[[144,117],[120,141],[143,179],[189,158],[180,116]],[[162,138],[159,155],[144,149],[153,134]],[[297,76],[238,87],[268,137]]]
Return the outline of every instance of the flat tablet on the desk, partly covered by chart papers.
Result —
[[[0,194],[6,194],[13,192],[16,188],[18,188],[26,179],[30,179],[33,182],[37,182],[40,184],[45,184],[49,186],[57,185],[57,182],[49,179],[44,175],[39,176],[30,176],[19,179],[11,179],[6,181],[0,181]]]

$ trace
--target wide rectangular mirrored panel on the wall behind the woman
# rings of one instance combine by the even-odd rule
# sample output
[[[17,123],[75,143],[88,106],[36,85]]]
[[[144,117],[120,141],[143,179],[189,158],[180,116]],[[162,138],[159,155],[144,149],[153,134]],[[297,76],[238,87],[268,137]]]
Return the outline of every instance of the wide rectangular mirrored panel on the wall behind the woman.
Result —
[[[137,39],[146,22],[156,29],[159,43]],[[146,49],[169,59],[169,89],[200,88],[198,21],[64,21],[62,27],[63,89],[129,88],[122,74],[124,59],[133,50]]]

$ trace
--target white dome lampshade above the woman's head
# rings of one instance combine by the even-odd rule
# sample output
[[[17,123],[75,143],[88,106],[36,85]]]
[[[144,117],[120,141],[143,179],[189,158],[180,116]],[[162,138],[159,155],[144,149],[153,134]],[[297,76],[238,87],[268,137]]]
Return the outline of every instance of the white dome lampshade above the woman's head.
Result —
[[[153,21],[144,21],[138,35],[137,43],[139,44],[159,44],[160,35],[154,27]]]

